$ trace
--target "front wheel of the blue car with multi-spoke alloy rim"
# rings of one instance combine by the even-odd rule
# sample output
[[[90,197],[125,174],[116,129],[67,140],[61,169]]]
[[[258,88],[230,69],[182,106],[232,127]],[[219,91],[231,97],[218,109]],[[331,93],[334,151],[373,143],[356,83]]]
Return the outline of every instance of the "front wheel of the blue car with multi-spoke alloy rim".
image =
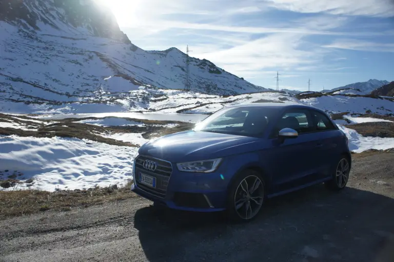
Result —
[[[227,215],[232,221],[250,221],[257,217],[265,200],[265,183],[254,170],[242,171],[228,190]]]

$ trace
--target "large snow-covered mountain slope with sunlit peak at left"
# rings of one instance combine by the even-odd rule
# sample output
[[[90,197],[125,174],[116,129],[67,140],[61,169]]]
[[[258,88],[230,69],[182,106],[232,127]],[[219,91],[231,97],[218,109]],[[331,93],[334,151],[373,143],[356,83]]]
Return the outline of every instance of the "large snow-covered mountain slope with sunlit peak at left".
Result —
[[[136,47],[92,0],[0,2],[0,101],[56,104],[140,86],[183,89],[185,78],[183,52]],[[226,95],[266,90],[192,57],[190,86]]]

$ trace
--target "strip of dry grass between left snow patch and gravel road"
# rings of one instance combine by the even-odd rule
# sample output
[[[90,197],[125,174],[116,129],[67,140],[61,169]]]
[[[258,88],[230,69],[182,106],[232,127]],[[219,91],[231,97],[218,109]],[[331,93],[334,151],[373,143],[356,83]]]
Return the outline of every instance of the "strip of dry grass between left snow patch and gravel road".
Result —
[[[118,189],[108,187],[58,192],[41,190],[0,191],[0,219],[47,210],[70,211],[74,208],[116,203],[116,201],[136,196],[130,191],[130,186],[131,183]]]

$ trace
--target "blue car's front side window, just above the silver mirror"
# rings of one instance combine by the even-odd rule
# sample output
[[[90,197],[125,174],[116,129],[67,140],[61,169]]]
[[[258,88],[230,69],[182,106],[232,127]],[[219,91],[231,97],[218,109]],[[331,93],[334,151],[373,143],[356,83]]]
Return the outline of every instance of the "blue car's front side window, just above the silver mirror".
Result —
[[[274,128],[272,136],[277,136],[283,128],[294,129],[299,134],[311,132],[314,129],[309,114],[305,110],[283,114]]]

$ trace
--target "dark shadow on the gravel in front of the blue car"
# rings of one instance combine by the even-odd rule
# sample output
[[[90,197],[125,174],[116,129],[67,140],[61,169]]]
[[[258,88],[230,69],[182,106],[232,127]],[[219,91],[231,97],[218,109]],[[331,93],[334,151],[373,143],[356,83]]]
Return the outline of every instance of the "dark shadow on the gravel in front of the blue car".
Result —
[[[137,210],[149,261],[394,261],[394,199],[323,185],[268,199],[249,223],[224,213]]]

